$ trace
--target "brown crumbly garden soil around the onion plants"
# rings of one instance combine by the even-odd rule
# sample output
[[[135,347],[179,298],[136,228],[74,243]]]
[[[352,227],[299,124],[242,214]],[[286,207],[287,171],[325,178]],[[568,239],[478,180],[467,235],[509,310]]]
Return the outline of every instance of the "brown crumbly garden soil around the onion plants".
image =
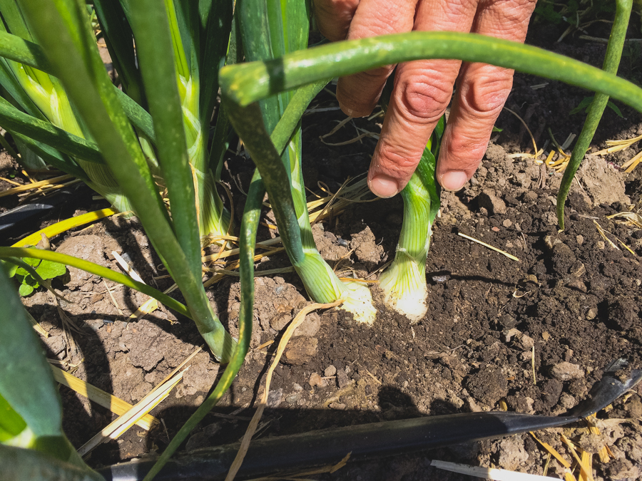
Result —
[[[546,28],[535,26],[531,43],[548,38]],[[574,38],[539,42],[594,64],[603,58],[600,43]],[[640,72],[628,68],[623,74],[634,77]],[[517,75],[506,106],[529,125],[540,148],[550,139],[549,129],[559,143],[579,133],[584,114],[569,115],[569,111],[585,96],[576,88]],[[336,105],[335,98],[323,92],[312,103],[317,111],[303,120],[304,176],[307,187],[317,194],[322,193],[317,181],[336,192],[347,177],[365,172],[376,139],[369,134],[346,142],[379,132],[380,117],[356,119],[321,140],[320,135],[345,118]],[[640,116],[621,109],[624,118],[606,110],[590,152],[604,148],[607,139],[642,134]],[[411,324],[387,309],[376,284],[371,286],[378,309],[373,326],[357,324],[343,311],[308,314],[275,370],[258,437],[501,408],[559,415],[586,398],[613,359],[627,358],[633,367],[642,367],[642,229],[626,219],[608,218],[628,212],[631,205],[635,210],[642,207],[642,167],[631,174],[618,168],[642,146],[634,144],[613,155],[587,155],[566,202],[566,229],[560,232],[555,206],[561,175],[533,158],[515,155],[533,152],[533,147],[513,114],[505,111],[496,125],[502,130],[491,138],[473,180],[459,192],[442,192],[427,259],[429,311],[424,319]],[[251,163],[230,153],[225,170],[238,228]],[[314,198],[310,194],[309,199]],[[58,210],[45,224],[101,207],[106,206],[88,197],[83,208],[66,206],[68,212]],[[272,224],[270,219],[271,213],[265,212],[267,225]],[[376,279],[379,269],[394,257],[401,224],[402,202],[397,196],[355,203],[315,224],[313,232],[322,256],[341,276]],[[259,240],[276,235],[275,229],[262,226]],[[136,218],[105,219],[51,239],[51,244],[57,252],[116,270],[112,252],[118,252],[146,283],[161,290],[171,286]],[[285,267],[285,253],[270,254],[258,262],[257,274]],[[57,279],[54,286],[66,299],[59,306],[46,292],[24,299],[49,332],[43,338],[47,357],[128,403],[141,400],[202,344],[193,323],[164,306],[141,320],[128,319],[147,297],[111,281],[70,268],[66,279]],[[170,295],[182,300],[178,291]],[[208,288],[208,296],[223,324],[235,333],[238,278],[224,277]],[[255,296],[251,351],[232,388],[193,431],[185,450],[240,439],[263,393],[280,336],[310,302],[290,272],[258,276]],[[197,353],[183,381],[152,411],[162,423],[151,432],[135,426],[118,440],[104,443],[91,453],[90,465],[162,452],[222,371],[207,352]],[[60,392],[64,428],[76,447],[114,418],[68,388],[61,387]],[[569,461],[572,455],[561,442],[563,433],[588,452],[606,445],[613,457],[601,462],[593,456],[595,479],[639,479],[641,399],[638,387],[598,413],[599,436],[589,434],[584,423],[536,436]],[[516,435],[349,463],[315,479],[473,479],[430,467],[432,459],[540,475],[548,464],[549,476],[564,473],[534,437]]]

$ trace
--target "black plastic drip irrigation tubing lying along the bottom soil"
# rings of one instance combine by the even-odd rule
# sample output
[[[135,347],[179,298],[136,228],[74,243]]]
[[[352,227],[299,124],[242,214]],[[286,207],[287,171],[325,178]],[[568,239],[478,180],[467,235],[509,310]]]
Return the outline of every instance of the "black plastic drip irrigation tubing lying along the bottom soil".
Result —
[[[298,435],[254,440],[237,479],[315,465],[332,465],[349,452],[350,460],[441,448],[475,440],[501,438],[532,430],[575,423],[613,403],[642,379],[641,370],[628,370],[623,359],[604,371],[588,398],[564,416],[518,413],[464,413],[405,419],[310,431]],[[203,448],[177,455],[154,478],[157,481],[224,480],[239,444]],[[106,481],[142,480],[154,460],[133,460],[104,467]]]

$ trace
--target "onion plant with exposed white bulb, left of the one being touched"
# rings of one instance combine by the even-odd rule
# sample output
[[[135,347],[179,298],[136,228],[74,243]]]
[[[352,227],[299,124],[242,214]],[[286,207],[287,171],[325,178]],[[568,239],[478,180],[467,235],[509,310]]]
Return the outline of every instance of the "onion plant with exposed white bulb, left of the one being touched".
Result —
[[[248,61],[266,61],[291,51],[302,51],[307,47],[310,12],[304,2],[243,0],[239,19],[245,57]],[[260,32],[260,36],[257,36],[256,32]],[[317,91],[325,86],[325,83],[327,81],[320,79],[316,86]],[[264,128],[272,131],[293,95],[294,92],[285,91],[262,100],[259,103],[260,116],[255,118],[256,123],[263,119]],[[307,101],[310,100],[311,98],[308,98]],[[240,110],[231,111],[230,120],[238,132],[239,129],[249,131],[253,128],[248,123],[248,115]],[[279,232],[284,239],[285,249],[307,294],[314,301],[321,303],[344,297],[346,300],[341,309],[350,311],[359,322],[372,324],[376,311],[372,305],[370,289],[357,282],[340,281],[332,268],[322,259],[312,237],[302,175],[300,119],[285,150],[272,150],[267,158],[260,153],[257,154],[255,150],[255,139],[260,139],[258,136],[241,136],[262,176],[280,228]],[[248,200],[246,208],[253,208],[255,203],[260,202],[263,192],[254,192],[254,195],[254,203]],[[284,207],[285,203],[287,206]]]

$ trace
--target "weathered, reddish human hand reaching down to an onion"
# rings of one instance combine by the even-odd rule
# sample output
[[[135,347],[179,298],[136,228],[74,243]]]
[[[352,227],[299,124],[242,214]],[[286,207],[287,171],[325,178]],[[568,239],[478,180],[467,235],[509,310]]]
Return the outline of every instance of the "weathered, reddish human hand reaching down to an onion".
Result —
[[[459,31],[523,42],[536,0],[315,0],[321,33],[331,41],[407,31]],[[340,78],[337,98],[352,117],[369,115],[395,66]],[[437,180],[459,190],[472,177],[513,82],[513,71],[485,63],[426,60],[397,66],[368,184],[392,197],[409,181],[432,130],[457,93],[442,140]]]

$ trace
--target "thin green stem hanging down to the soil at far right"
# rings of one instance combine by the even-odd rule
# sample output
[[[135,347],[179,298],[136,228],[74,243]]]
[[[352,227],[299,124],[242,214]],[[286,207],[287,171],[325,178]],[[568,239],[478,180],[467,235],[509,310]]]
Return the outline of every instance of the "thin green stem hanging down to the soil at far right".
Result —
[[[616,0],[616,16],[613,21],[613,27],[611,28],[611,36],[608,38],[606,56],[602,66],[605,72],[618,72],[632,6],[633,0]],[[595,97],[593,97],[593,102],[591,102],[588,108],[584,126],[571,154],[569,165],[567,165],[566,170],[564,170],[559,192],[557,192],[557,222],[559,222],[559,227],[562,230],[564,230],[564,203],[566,202],[566,196],[569,195],[571,182],[573,182],[573,178],[584,159],[584,155],[586,155],[586,150],[591,146],[591,140],[593,140],[593,135],[595,135],[607,103],[608,95],[604,93],[596,93]]]

